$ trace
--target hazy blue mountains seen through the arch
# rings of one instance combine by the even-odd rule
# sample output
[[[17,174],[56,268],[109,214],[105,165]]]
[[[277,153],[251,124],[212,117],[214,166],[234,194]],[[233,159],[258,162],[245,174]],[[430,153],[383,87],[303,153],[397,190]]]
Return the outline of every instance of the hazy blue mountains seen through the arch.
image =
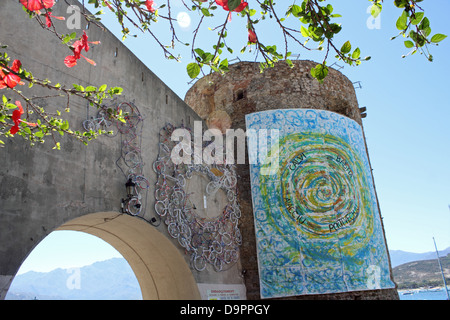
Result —
[[[7,300],[141,300],[128,262],[113,258],[74,269],[30,271],[14,278]]]

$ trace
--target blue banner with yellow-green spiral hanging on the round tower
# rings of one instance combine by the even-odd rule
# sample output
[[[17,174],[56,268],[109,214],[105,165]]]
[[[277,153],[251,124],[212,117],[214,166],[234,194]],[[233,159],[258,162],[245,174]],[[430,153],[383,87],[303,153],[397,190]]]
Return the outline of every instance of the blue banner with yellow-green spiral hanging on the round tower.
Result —
[[[246,123],[261,297],[394,287],[361,126],[310,109]]]

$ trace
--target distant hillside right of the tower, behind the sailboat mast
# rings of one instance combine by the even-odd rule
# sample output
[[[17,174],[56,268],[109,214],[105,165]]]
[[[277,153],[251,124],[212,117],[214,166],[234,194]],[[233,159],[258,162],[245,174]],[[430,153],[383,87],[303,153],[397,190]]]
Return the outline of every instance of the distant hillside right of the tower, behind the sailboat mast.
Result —
[[[447,285],[450,285],[450,254],[441,257],[440,260]],[[408,262],[393,268],[392,272],[399,289],[442,287],[444,285],[437,258]]]

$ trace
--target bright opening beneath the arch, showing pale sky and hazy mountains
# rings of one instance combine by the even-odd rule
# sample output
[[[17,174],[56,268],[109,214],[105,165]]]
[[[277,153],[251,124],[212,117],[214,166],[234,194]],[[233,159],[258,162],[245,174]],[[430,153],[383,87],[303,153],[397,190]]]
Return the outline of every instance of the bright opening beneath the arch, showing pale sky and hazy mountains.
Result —
[[[85,232],[55,230],[30,252],[5,300],[142,300],[128,262]]]

